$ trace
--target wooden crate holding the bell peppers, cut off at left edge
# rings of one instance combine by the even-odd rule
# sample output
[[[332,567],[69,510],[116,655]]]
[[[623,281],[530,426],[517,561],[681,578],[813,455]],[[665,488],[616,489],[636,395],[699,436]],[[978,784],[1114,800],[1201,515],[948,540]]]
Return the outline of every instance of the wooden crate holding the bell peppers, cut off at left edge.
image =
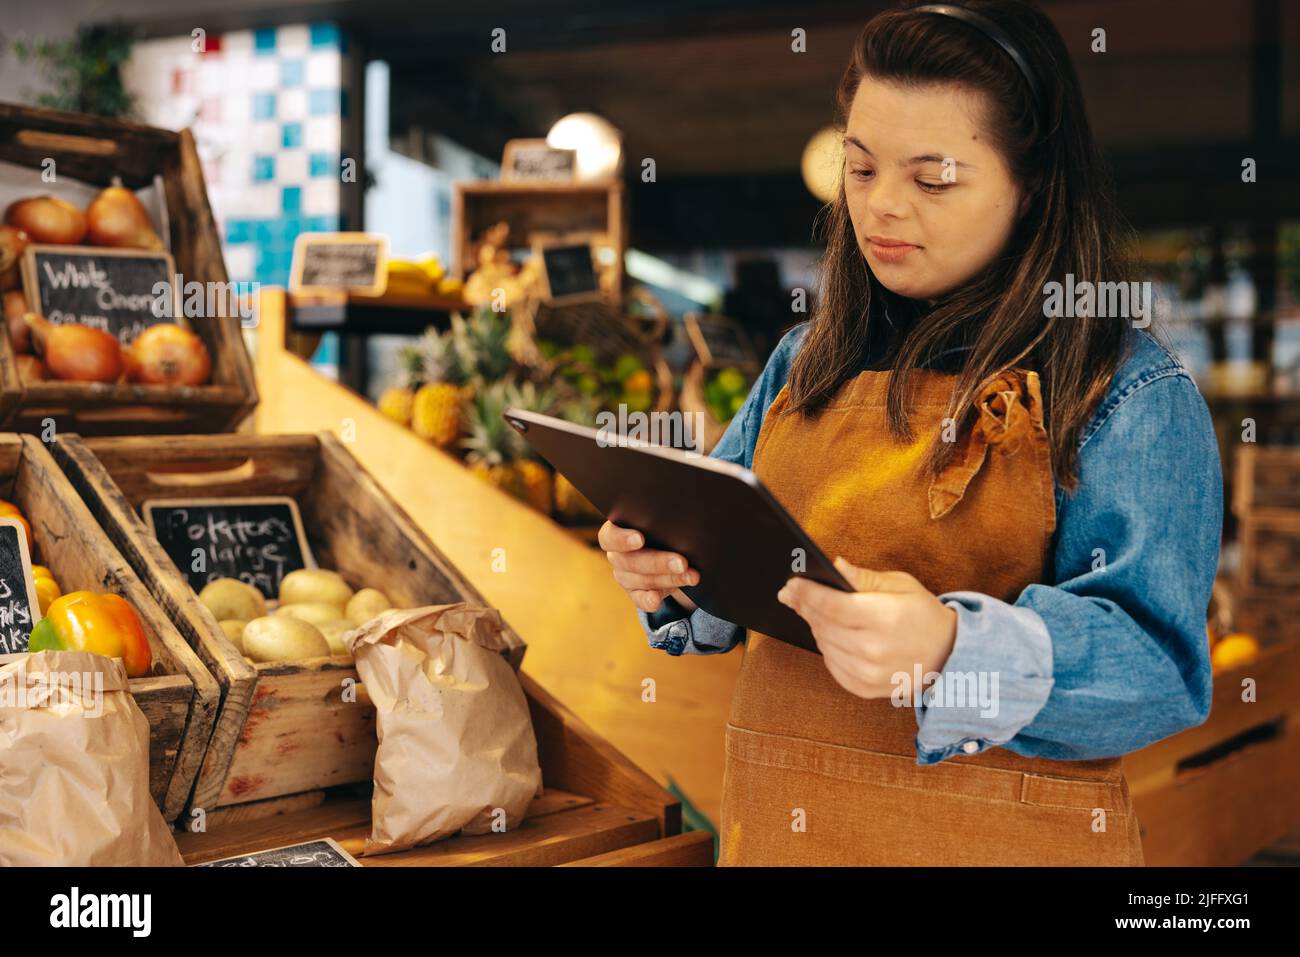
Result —
[[[49,567],[64,593],[110,592],[139,612],[153,667],[133,677],[130,690],[150,722],[150,792],[174,820],[208,746],[217,683],[32,436],[0,434],[0,495],[31,524],[34,560]]]

